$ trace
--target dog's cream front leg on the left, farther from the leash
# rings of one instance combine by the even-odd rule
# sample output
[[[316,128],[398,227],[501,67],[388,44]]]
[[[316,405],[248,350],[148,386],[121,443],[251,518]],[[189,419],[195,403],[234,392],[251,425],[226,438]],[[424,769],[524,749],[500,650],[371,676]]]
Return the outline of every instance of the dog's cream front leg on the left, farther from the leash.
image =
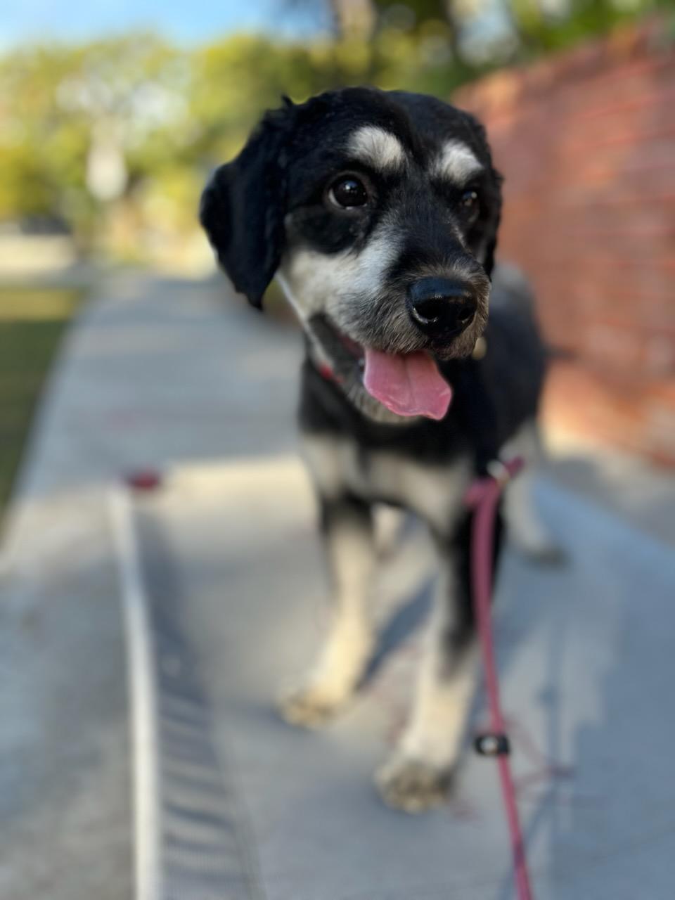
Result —
[[[282,702],[294,725],[320,725],[351,697],[373,648],[368,594],[375,563],[370,504],[321,498],[321,526],[333,587],[328,635],[309,677]]]

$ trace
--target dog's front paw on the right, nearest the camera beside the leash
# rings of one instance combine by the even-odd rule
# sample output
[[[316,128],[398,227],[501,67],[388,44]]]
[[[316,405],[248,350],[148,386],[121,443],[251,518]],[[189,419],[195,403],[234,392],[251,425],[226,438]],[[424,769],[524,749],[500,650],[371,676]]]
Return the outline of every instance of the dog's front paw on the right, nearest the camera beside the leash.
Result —
[[[428,762],[394,756],[375,774],[375,784],[387,806],[404,813],[423,813],[446,803],[452,770]]]

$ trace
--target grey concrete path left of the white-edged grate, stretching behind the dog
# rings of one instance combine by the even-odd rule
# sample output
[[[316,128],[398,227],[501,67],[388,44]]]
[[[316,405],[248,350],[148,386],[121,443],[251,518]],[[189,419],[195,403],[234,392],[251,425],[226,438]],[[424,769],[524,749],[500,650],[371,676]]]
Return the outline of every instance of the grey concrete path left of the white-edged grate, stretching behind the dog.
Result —
[[[0,552],[0,896],[131,890],[122,475],[289,453],[300,339],[223,281],[102,285],[62,347]]]

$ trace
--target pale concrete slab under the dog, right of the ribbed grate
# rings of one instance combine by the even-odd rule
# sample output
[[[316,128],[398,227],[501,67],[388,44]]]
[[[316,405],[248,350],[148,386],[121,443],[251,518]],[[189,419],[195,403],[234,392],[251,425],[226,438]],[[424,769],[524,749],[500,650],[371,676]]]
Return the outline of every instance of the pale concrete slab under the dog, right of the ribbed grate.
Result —
[[[667,900],[675,849],[672,549],[550,479],[539,487],[545,518],[571,562],[546,570],[507,554],[495,615],[535,896]],[[342,716],[308,734],[284,725],[273,707],[284,683],[311,662],[326,608],[300,465],[233,460],[181,468],[139,514],[142,553],[153,560],[150,606],[160,623],[173,608],[169,631],[190,648],[176,656],[172,638],[166,662],[172,671],[190,670],[192,659],[211,709],[198,741],[181,732],[180,759],[197,781],[210,777],[205,757],[218,761],[229,797],[218,807],[221,831],[243,827],[255,860],[251,867],[223,852],[227,863],[211,865],[213,880],[193,880],[190,895],[172,891],[181,882],[169,876],[167,896],[512,897],[490,761],[468,754],[452,802],[421,818],[384,808],[372,784],[410,703],[415,626],[428,606],[433,565],[426,536],[411,533],[383,564],[374,591],[383,642],[373,677]],[[181,688],[174,677],[160,705],[171,709],[176,696],[195,694],[192,678]],[[474,725],[484,718],[479,699]],[[172,734],[165,753],[174,761]],[[211,804],[211,792],[206,808],[193,797],[189,819],[212,815]],[[192,835],[185,867],[188,848],[203,854],[213,836],[200,841],[174,803],[166,809],[174,835],[165,836],[167,854],[176,833]],[[251,892],[239,894],[245,878]]]

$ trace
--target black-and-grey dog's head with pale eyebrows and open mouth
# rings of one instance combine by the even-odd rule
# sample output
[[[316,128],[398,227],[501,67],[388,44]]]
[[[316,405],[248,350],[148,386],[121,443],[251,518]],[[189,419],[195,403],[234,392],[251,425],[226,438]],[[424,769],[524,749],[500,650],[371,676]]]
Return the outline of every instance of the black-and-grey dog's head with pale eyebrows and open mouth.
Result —
[[[469,356],[487,320],[500,181],[468,113],[347,88],[267,112],[211,178],[201,219],[254,305],[278,275],[366,415],[440,419],[436,360]]]

